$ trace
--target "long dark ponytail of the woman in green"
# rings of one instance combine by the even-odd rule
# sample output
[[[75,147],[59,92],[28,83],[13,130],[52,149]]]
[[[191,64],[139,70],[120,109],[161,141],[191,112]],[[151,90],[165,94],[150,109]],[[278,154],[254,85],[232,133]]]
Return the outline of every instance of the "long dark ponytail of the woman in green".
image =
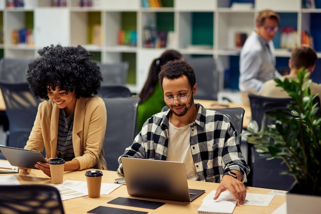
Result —
[[[159,58],[156,58],[152,61],[152,64],[149,68],[147,80],[141,93],[139,93],[139,97],[141,98],[142,102],[147,100],[155,91],[156,84],[158,83],[158,73],[160,71],[160,67],[165,65],[165,63],[168,61],[181,58],[183,58],[183,56],[178,51],[167,50],[162,55],[160,55]]]

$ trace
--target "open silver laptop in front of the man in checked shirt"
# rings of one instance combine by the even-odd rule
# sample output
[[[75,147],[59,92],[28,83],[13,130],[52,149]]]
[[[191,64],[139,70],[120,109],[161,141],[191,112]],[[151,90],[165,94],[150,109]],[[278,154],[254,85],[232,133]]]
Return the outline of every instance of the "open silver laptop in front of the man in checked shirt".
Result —
[[[130,196],[191,202],[205,192],[188,188],[184,163],[126,157],[122,163]]]

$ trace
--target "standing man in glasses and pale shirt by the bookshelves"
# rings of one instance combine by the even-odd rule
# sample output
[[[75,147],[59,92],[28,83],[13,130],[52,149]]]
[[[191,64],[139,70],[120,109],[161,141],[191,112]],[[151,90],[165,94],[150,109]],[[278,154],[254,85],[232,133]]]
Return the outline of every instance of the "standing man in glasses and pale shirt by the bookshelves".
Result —
[[[275,69],[274,38],[279,16],[272,10],[263,10],[256,18],[256,30],[247,38],[239,57],[240,96],[250,105],[248,94],[257,94],[263,83],[281,76]]]

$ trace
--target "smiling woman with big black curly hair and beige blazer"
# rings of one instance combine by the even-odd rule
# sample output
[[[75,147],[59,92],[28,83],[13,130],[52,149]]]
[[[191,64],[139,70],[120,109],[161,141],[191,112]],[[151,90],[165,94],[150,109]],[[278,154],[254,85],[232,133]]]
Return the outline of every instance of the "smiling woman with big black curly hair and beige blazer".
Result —
[[[83,47],[60,45],[39,50],[29,63],[27,81],[38,106],[26,149],[43,151],[46,158],[63,158],[65,171],[107,169],[103,142],[107,113],[102,98],[94,96],[103,80],[99,67]],[[35,167],[50,177],[48,163]]]

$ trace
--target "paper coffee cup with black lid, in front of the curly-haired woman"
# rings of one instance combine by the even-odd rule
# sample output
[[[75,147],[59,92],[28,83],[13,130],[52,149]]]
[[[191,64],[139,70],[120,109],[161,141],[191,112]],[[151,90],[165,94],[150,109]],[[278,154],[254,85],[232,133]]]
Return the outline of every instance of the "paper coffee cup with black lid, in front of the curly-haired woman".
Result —
[[[65,160],[62,158],[52,158],[49,160],[51,182],[61,184],[64,181]]]

